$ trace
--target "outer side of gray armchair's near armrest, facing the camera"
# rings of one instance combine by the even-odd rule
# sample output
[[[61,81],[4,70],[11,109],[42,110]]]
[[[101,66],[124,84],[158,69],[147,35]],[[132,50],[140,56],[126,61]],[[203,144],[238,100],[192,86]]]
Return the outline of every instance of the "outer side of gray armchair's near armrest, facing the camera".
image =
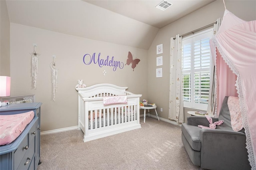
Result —
[[[202,168],[247,169],[250,166],[244,133],[202,128],[199,135]]]

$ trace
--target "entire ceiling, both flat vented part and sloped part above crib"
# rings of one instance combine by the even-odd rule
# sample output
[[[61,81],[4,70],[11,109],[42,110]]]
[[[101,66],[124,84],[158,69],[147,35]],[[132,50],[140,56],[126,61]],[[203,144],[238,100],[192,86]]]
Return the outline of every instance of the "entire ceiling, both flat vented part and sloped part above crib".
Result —
[[[10,22],[148,49],[158,30],[215,0],[6,0]]]

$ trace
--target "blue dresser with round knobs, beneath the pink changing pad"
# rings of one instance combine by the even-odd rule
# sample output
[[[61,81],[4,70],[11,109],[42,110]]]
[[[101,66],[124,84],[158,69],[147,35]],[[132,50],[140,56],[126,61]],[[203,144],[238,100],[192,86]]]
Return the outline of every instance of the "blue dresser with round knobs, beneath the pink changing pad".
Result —
[[[0,115],[34,111],[33,120],[12,143],[0,146],[0,170],[36,170],[40,164],[40,106],[20,103],[0,107]]]

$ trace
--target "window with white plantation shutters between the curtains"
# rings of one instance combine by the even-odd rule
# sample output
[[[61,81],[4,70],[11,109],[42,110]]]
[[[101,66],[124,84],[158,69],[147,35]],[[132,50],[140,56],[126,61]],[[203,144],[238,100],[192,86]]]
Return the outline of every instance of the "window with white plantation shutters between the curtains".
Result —
[[[184,107],[207,110],[210,91],[213,29],[182,39],[182,89]]]

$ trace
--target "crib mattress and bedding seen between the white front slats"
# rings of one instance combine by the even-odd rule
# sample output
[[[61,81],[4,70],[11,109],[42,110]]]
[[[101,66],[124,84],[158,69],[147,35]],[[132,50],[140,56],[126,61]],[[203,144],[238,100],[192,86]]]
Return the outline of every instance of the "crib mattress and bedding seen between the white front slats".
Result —
[[[115,119],[116,119],[116,124],[118,124],[119,123],[119,121],[120,121],[120,123],[122,123],[122,122],[125,122],[125,115],[123,115],[123,119],[122,119],[122,115],[121,114],[118,114],[120,117],[119,117],[119,119],[116,119],[115,117],[114,117],[114,115],[113,115],[113,119],[111,119],[111,116],[109,117],[109,125],[112,125],[112,122],[113,122],[113,125],[115,125]],[[129,119],[128,119],[128,117],[129,117]],[[127,114],[126,115],[126,122],[128,122],[128,120],[134,120],[134,114]],[[92,128],[95,128],[95,120],[92,122]],[[105,117],[105,126],[107,126],[108,125],[108,119],[107,119],[107,115],[106,115],[106,117]],[[104,126],[104,119],[103,119],[103,117],[101,118],[101,127],[103,127]],[[97,119],[97,128],[99,128],[100,127],[100,119],[98,118]],[[89,129],[91,129],[91,123],[90,123],[90,120],[89,120]]]

